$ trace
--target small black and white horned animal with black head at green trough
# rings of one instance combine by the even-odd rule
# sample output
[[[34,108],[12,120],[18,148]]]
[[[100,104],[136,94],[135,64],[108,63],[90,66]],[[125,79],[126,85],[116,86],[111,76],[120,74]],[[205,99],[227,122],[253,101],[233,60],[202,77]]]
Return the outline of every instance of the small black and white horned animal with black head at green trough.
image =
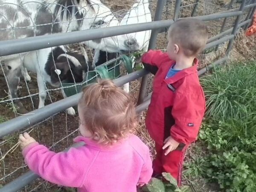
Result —
[[[84,79],[84,73],[93,70],[92,64],[88,62],[85,50],[83,55],[67,52],[64,46],[50,47],[37,51],[28,52],[23,59],[23,67],[37,74],[39,89],[38,108],[44,107],[47,96],[46,84],[60,87],[62,81],[68,83],[79,83]],[[35,64],[38,63],[38,64]],[[66,97],[62,90],[64,98]],[[67,113],[75,115],[73,108],[68,108]]]

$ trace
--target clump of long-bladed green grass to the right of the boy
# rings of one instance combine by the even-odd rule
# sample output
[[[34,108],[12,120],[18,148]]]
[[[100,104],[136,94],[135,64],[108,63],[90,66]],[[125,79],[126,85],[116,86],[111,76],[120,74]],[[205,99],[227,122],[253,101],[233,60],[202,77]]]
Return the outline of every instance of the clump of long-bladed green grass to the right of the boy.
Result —
[[[224,120],[239,119],[256,109],[255,63],[232,64],[214,69],[201,78],[207,100],[206,116]]]

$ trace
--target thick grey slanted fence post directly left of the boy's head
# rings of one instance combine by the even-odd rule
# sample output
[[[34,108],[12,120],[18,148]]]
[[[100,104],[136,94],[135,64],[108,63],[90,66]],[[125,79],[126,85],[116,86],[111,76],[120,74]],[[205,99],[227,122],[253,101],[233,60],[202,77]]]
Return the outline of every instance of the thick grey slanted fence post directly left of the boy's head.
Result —
[[[163,6],[165,4],[165,1],[166,0],[157,0],[157,9],[156,9],[156,12],[154,15],[154,21],[161,20],[162,13],[163,13]],[[151,36],[150,36],[150,40],[149,40],[149,44],[148,44],[148,50],[154,49],[156,47],[158,32],[159,32],[158,29],[154,29],[151,31]],[[140,92],[139,92],[139,96],[138,96],[137,105],[140,105],[145,98],[147,84],[148,84],[148,74],[143,76],[143,78],[141,79]]]

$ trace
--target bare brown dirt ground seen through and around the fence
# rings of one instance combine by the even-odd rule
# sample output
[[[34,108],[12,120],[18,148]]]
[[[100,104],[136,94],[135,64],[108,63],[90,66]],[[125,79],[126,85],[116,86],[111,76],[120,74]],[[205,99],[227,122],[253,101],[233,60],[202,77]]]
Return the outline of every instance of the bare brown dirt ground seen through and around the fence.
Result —
[[[110,9],[114,12],[117,12],[119,15],[124,14],[134,3],[134,0],[102,0]],[[155,12],[156,0],[151,0],[151,10],[152,13]],[[211,2],[211,1],[205,1]],[[180,17],[188,17],[192,11],[192,4],[194,0],[184,0],[182,4],[182,9]],[[210,5],[210,6],[209,6]],[[214,4],[207,4],[207,9],[205,9],[205,4],[201,3],[198,6],[196,15],[207,15],[214,12],[220,12],[225,10],[227,5],[225,0],[217,0]],[[237,6],[237,5],[234,5]],[[174,3],[168,1],[167,8],[163,11],[162,19],[172,19],[174,13]],[[152,14],[153,17],[154,14]],[[209,27],[210,36],[218,34],[221,23],[223,20],[207,22]],[[229,29],[233,24],[233,20],[227,22],[227,29]],[[166,34],[159,34],[157,38],[157,49],[166,49]],[[73,49],[76,49],[76,45],[70,46]],[[211,50],[204,52],[200,55],[200,68],[203,68],[213,61],[216,61],[218,58],[221,58],[225,53],[225,48],[227,43],[222,44],[217,51]],[[244,32],[240,31],[239,35],[236,38],[236,41],[233,45],[233,50],[230,53],[230,61],[244,61],[244,60],[255,60],[256,59],[256,37],[245,37]],[[29,94],[38,93],[36,76],[30,74],[32,81],[28,83],[29,89],[26,87],[26,83],[21,80],[20,86],[22,87],[19,90],[19,96],[25,97]],[[153,76],[150,76],[147,93],[151,92],[151,83]],[[0,101],[8,99],[8,87],[6,85],[6,80],[3,74],[3,71],[0,70]],[[48,87],[52,88],[52,87]],[[134,99],[134,102],[137,101],[138,91],[140,89],[140,80],[131,82],[130,84],[130,95]],[[29,90],[29,91],[28,91]],[[47,96],[45,104],[48,105],[52,102],[56,102],[60,99],[63,99],[60,91],[50,91],[50,96]],[[28,111],[33,111],[38,107],[38,95],[26,97],[21,100],[23,105]],[[32,105],[33,102],[33,105]],[[5,120],[13,119],[15,116],[19,116],[14,112],[12,105],[9,102],[0,104],[0,117],[3,117]],[[145,111],[143,112],[140,120],[140,124],[136,128],[136,134],[145,142],[151,149],[152,157],[154,156],[154,143],[150,139],[145,129]],[[27,128],[26,131],[31,131],[32,136],[34,136],[40,143],[47,145],[47,147],[52,147],[55,151],[62,151],[64,148],[70,146],[73,141],[72,139],[78,136],[78,116],[70,116],[65,112],[56,114],[55,116],[49,117],[49,119],[44,120],[38,125],[33,126],[32,128]],[[22,130],[25,131],[25,130]],[[19,132],[20,133],[20,132]],[[23,163],[23,157],[20,153],[20,148],[17,146],[17,137],[19,133],[14,133],[9,136],[6,136],[0,139],[0,186],[6,185],[13,179],[27,172],[28,169]],[[53,145],[54,144],[54,145]],[[193,150],[193,146],[189,150]],[[192,152],[191,152],[192,153]],[[190,156],[188,155],[187,161],[189,161]],[[204,180],[198,179],[195,181],[198,183],[196,191],[198,192],[210,192],[215,191],[214,185],[206,185]],[[189,180],[184,178],[184,184],[189,184]],[[54,186],[50,183],[44,182],[41,179],[35,180],[31,185],[27,186],[26,189],[23,189],[22,192],[56,192],[56,191],[65,191],[57,186]]]

